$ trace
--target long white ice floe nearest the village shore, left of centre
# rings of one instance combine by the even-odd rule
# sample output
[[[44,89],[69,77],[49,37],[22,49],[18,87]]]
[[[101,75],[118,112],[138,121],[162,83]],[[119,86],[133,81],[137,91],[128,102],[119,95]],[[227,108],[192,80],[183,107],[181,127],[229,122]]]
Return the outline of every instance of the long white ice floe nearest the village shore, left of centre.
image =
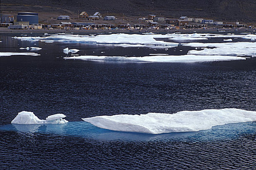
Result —
[[[155,38],[168,38],[169,35],[161,34],[100,34],[100,35],[69,35],[54,34],[45,37],[14,37],[27,41],[56,41],[61,43],[86,43],[99,45],[112,45],[121,47],[174,47],[178,43],[164,42]]]

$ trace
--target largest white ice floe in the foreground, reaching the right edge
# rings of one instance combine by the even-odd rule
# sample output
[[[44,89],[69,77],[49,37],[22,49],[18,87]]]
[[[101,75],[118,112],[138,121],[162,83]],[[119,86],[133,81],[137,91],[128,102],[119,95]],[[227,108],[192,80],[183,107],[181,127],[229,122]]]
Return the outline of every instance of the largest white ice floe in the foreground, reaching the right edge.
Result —
[[[99,128],[114,131],[161,134],[193,132],[211,129],[217,125],[255,121],[256,112],[229,108],[181,111],[176,114],[97,116],[83,120]]]

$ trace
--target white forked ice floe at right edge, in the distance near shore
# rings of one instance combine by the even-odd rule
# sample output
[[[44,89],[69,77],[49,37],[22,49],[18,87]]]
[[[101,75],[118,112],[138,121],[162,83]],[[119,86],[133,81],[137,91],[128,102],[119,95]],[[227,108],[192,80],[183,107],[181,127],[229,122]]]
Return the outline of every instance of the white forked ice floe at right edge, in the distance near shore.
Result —
[[[196,48],[199,48],[199,47],[206,48],[200,51],[197,51],[197,50],[188,51],[188,54],[195,54],[195,55],[252,56],[254,53],[256,53],[256,42],[182,43],[181,45],[196,47]]]

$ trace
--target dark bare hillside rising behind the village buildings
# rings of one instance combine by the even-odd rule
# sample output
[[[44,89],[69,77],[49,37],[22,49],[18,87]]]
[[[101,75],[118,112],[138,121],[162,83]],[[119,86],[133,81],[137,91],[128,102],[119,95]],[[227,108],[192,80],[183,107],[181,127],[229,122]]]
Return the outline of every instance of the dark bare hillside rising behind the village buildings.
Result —
[[[39,20],[59,15],[73,18],[81,11],[119,17],[211,18],[220,21],[256,23],[256,0],[1,0],[2,14],[37,12]]]

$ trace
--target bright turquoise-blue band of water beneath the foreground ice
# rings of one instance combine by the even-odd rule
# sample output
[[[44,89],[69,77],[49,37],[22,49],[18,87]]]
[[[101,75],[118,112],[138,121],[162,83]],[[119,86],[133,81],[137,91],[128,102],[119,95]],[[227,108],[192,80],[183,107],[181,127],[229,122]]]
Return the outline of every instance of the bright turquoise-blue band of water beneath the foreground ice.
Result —
[[[211,141],[218,139],[232,139],[245,134],[256,133],[256,122],[234,123],[222,126],[214,126],[212,129],[198,132],[185,133],[165,133],[165,134],[142,134],[118,132],[98,128],[84,121],[68,122],[65,124],[40,124],[40,125],[20,125],[7,124],[0,126],[0,130],[17,131],[21,133],[43,133],[55,134],[59,136],[77,136],[96,140],[191,140],[191,141]]]

